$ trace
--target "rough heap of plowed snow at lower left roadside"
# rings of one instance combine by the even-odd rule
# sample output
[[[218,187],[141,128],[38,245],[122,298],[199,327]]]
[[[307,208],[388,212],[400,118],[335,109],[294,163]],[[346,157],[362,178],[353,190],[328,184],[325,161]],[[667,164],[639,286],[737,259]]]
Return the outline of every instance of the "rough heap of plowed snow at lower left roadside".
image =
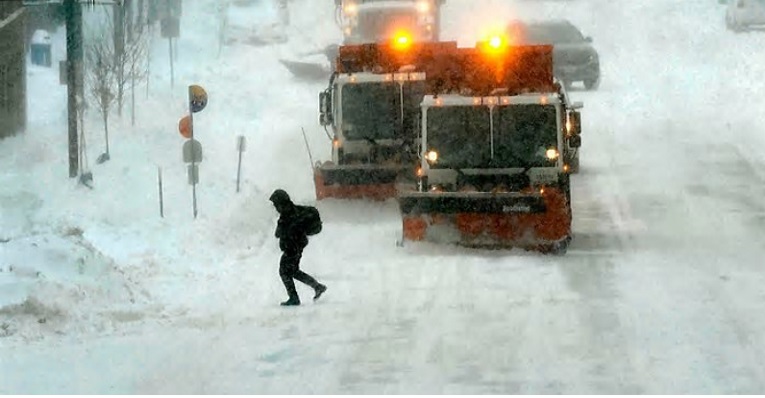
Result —
[[[142,318],[147,299],[77,228],[0,243],[3,337],[105,332]]]

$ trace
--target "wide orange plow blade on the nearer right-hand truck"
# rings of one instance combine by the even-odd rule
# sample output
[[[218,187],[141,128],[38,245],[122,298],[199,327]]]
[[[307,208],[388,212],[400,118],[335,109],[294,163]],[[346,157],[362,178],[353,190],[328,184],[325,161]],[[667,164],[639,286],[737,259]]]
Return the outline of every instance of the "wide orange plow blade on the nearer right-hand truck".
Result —
[[[398,197],[408,241],[565,253],[571,212],[564,192],[409,192]]]

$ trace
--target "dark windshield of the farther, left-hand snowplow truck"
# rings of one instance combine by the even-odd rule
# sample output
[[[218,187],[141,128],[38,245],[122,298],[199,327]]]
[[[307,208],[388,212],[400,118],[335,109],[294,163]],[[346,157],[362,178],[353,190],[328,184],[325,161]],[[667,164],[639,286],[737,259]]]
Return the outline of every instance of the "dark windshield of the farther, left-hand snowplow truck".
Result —
[[[353,83],[344,85],[342,90],[342,129],[347,140],[413,139],[417,136],[424,82],[412,81],[403,85],[396,82]]]

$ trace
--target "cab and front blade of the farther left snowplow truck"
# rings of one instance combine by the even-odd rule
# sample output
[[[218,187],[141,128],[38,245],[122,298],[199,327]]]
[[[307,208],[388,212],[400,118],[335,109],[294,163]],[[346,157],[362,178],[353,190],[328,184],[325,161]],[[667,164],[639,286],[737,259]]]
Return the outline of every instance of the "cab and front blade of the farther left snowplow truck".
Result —
[[[319,101],[332,158],[316,170],[318,199],[387,199],[398,181],[414,178],[424,91],[420,72],[333,75]]]

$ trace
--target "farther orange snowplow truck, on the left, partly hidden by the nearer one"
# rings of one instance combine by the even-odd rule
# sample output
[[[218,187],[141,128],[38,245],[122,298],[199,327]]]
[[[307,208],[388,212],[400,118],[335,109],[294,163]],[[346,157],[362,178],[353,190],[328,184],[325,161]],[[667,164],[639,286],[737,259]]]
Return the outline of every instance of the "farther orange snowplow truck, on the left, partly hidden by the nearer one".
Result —
[[[316,198],[385,200],[414,184],[419,164],[420,103],[438,59],[456,42],[341,46],[319,122],[332,138],[332,160],[314,168]],[[434,74],[436,75],[436,74]]]

